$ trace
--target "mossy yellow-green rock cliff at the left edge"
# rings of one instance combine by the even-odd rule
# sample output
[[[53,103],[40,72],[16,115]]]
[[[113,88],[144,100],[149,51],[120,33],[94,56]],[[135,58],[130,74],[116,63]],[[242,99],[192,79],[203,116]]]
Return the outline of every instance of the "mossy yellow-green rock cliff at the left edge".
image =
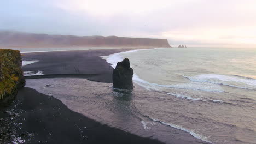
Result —
[[[7,105],[25,86],[20,51],[0,49],[0,106]]]

